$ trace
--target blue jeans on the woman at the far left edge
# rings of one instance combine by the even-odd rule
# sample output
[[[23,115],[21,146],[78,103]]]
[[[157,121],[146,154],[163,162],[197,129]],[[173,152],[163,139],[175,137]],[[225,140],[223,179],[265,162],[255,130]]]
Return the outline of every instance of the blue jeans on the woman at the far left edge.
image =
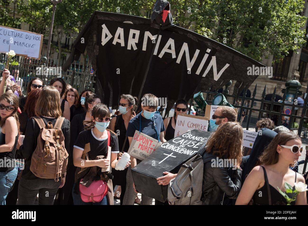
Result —
[[[17,178],[17,166],[9,172],[0,172],[0,205],[5,205],[5,199]]]

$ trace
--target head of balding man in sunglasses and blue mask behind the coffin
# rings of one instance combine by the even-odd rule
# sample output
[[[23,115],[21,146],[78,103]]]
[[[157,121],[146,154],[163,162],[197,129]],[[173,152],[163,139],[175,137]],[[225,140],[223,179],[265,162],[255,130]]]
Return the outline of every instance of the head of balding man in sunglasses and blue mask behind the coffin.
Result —
[[[209,131],[216,131],[218,126],[226,122],[235,122],[237,113],[229,106],[219,106],[210,119]]]

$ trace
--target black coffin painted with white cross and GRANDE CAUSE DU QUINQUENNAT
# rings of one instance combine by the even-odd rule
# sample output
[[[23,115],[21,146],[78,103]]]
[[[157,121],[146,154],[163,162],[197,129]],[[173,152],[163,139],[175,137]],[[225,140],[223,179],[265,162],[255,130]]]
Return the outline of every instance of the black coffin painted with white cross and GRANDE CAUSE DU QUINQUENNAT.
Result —
[[[159,185],[156,178],[164,176],[163,172],[177,173],[183,163],[205,146],[211,135],[212,132],[192,130],[163,143],[132,168],[136,190],[161,202],[166,201],[168,185]]]

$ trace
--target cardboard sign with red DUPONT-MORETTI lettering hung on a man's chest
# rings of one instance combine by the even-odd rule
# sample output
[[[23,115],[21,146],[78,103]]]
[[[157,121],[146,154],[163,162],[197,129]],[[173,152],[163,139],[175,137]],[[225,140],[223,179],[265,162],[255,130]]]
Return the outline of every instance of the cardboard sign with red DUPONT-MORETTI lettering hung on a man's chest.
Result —
[[[161,144],[162,142],[136,130],[127,153],[132,157],[144,160]]]

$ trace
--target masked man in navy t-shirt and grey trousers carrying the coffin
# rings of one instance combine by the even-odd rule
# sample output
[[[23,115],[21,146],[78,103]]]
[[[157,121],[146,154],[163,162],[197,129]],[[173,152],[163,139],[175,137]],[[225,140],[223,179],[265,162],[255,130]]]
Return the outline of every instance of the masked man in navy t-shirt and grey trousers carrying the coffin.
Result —
[[[135,131],[140,131],[156,140],[166,142],[164,139],[164,123],[163,118],[156,112],[158,106],[158,98],[153,94],[144,94],[141,98],[142,111],[132,118],[127,127],[126,136],[129,145],[132,143]],[[126,192],[124,195],[123,205],[134,205],[136,197],[135,184],[132,178],[131,168],[135,167],[141,160],[131,156],[131,166],[128,167],[126,175]],[[141,205],[151,205],[153,199],[145,195],[141,195]]]

